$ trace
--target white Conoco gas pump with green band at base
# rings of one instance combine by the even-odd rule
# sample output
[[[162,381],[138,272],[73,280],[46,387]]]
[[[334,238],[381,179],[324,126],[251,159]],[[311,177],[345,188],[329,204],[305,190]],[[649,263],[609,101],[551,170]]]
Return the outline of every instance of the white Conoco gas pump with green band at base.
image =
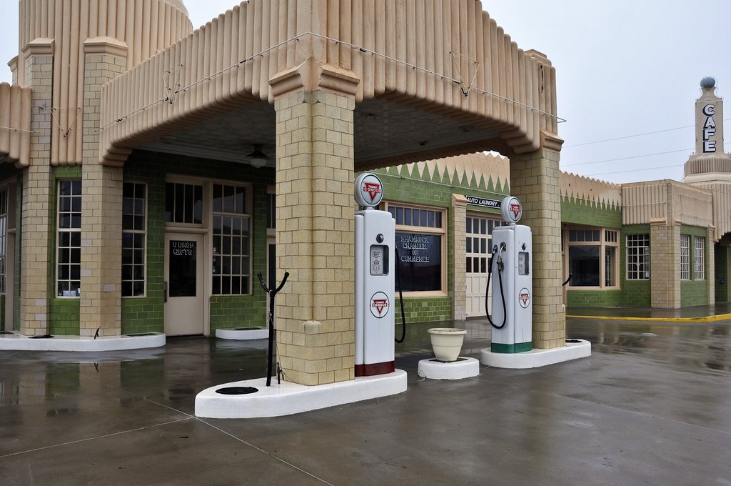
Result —
[[[517,225],[523,216],[523,206],[518,198],[504,198],[500,212],[508,223],[493,230],[492,256],[488,274],[493,280],[492,317],[485,311],[493,326],[491,351],[493,353],[522,353],[531,351],[533,288],[531,268],[533,249],[531,228]]]

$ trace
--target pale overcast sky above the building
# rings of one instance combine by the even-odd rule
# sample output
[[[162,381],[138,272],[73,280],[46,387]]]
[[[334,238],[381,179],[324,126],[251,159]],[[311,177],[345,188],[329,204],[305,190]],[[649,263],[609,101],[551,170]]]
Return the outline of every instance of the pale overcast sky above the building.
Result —
[[[197,28],[238,2],[184,3]],[[10,82],[18,1],[0,4],[0,81]],[[545,53],[556,67],[564,171],[618,183],[679,181],[694,152],[700,80],[713,76],[717,94],[731,100],[729,0],[485,0],[482,7],[519,48]]]

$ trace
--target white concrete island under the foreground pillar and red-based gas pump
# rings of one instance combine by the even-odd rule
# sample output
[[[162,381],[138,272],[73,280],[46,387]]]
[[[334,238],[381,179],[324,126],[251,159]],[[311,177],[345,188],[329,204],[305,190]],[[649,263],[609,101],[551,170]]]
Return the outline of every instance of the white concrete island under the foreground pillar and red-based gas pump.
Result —
[[[251,386],[258,391],[249,395],[221,395],[217,389],[229,386]],[[325,385],[306,386],[295,383],[276,383],[271,386],[266,378],[235,381],[211,386],[195,397],[195,415],[209,419],[254,419],[268,416],[299,414],[344,403],[370,400],[406,392],[406,372],[376,376],[359,376],[355,380]]]

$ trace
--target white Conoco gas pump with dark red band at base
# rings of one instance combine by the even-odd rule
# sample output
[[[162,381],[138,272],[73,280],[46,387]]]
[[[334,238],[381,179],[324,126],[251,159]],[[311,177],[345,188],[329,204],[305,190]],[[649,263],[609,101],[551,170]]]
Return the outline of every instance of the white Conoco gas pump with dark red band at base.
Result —
[[[395,221],[374,209],[383,198],[381,180],[355,180],[355,375],[392,373]]]

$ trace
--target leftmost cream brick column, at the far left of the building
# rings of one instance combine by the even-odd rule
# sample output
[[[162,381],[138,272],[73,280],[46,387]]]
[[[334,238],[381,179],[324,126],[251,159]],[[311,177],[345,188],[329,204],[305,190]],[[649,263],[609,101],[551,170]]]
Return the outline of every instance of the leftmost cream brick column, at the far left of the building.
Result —
[[[26,86],[33,89],[31,160],[23,172],[20,215],[20,332],[48,332],[48,291],[56,272],[50,266],[50,132],[53,100],[53,41],[34,41],[23,49]],[[22,64],[21,64],[22,65]]]

